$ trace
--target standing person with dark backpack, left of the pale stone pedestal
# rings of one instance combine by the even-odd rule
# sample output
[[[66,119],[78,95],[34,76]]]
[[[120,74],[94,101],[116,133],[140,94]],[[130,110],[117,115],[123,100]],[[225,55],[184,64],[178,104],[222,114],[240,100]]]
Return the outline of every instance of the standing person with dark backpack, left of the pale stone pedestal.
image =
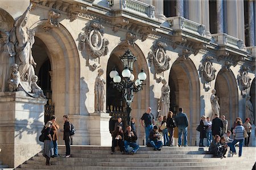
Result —
[[[63,119],[64,119],[63,140],[65,141],[65,146],[66,146],[65,158],[69,158],[71,156],[70,155],[70,145],[71,145],[72,127],[71,127],[71,123],[68,121],[68,115],[64,115]]]

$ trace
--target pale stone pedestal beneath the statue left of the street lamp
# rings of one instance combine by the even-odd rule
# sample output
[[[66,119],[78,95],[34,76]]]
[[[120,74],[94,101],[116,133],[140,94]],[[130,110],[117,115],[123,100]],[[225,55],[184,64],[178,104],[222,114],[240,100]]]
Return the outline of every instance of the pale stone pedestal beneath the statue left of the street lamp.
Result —
[[[109,113],[90,113],[88,129],[90,145],[112,146],[112,136],[109,133]]]

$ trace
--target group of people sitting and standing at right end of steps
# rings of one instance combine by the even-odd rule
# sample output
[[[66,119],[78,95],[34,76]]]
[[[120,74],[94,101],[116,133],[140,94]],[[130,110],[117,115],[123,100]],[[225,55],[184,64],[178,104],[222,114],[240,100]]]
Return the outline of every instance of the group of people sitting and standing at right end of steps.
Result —
[[[228,130],[228,120],[225,119],[224,115],[219,118],[218,114],[214,114],[212,121],[209,117],[202,116],[197,130],[200,131],[199,146],[204,147],[204,138],[207,138],[210,154],[217,157],[225,158],[228,147],[232,154],[237,154],[235,146],[238,142],[238,156],[241,157],[243,142],[245,141],[245,146],[249,146],[250,118],[246,118],[245,123],[242,124],[242,119],[237,117],[232,128]]]

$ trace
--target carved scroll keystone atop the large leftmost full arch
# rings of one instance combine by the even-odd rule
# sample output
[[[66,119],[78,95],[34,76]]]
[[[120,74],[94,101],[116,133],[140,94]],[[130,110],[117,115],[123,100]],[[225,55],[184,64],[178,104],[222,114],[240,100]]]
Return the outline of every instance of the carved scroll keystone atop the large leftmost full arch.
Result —
[[[60,23],[58,22],[58,18],[60,18],[60,13],[49,11],[48,20],[42,27],[44,31],[49,31],[51,28],[59,28]]]

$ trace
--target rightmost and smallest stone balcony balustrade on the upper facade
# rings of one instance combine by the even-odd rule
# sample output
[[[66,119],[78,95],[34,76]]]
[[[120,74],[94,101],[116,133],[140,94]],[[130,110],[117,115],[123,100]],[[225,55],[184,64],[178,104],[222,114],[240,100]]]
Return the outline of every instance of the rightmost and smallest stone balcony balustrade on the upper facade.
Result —
[[[234,48],[246,50],[243,40],[227,35],[226,33],[212,34],[212,39],[213,42],[218,45],[229,45],[233,46]]]

